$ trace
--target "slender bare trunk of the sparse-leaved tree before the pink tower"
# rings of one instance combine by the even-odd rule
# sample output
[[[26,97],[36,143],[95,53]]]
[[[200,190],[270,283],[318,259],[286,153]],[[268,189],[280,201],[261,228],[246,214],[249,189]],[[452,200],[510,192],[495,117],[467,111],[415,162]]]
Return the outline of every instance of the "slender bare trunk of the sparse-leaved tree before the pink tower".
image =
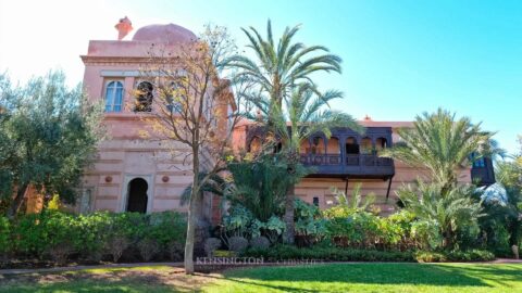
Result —
[[[190,193],[189,208],[188,208],[188,225],[187,225],[187,240],[185,242],[185,273],[194,273],[194,242],[196,235],[196,228],[198,225],[198,207],[199,207],[199,155],[194,153],[192,161],[192,191]]]

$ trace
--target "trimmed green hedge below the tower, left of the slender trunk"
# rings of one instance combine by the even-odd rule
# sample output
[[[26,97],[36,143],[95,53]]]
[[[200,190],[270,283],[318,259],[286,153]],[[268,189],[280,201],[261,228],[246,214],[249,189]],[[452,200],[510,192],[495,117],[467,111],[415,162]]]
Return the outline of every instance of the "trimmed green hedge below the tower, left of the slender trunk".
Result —
[[[73,256],[117,262],[125,252],[134,251],[146,262],[159,253],[177,260],[183,257],[185,233],[185,218],[175,212],[74,215],[45,211],[14,221],[0,217],[0,255],[63,264]]]

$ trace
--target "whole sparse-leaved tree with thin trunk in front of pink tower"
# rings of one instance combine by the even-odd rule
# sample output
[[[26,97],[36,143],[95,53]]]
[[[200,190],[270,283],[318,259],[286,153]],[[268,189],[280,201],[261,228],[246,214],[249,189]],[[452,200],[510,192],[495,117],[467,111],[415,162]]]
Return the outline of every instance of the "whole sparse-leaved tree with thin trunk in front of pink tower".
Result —
[[[194,272],[195,234],[202,191],[226,167],[232,153],[232,132],[240,118],[238,112],[245,111],[243,98],[249,89],[248,82],[232,71],[223,71],[224,61],[235,50],[226,28],[208,26],[199,39],[182,43],[175,51],[153,46],[142,69],[159,93],[152,100],[153,111],[147,112],[150,109],[147,105],[141,115],[149,124],[142,135],[161,141],[172,156],[182,156],[192,171],[185,244],[186,273]],[[181,145],[188,151],[179,152]]]

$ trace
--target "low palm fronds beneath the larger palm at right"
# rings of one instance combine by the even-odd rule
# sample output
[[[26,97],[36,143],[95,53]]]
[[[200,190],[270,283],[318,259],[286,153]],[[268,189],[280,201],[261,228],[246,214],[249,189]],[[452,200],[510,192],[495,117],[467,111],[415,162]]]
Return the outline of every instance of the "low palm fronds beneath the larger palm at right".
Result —
[[[471,231],[477,226],[477,219],[483,216],[481,203],[473,200],[473,186],[453,187],[443,194],[443,187],[435,183],[418,182],[417,187],[406,186],[399,189],[397,195],[405,208],[423,222],[417,231],[426,240],[434,240],[436,227],[442,242],[438,246],[453,249],[459,245],[459,233]],[[475,238],[478,231],[475,230]],[[430,246],[433,247],[430,243]]]

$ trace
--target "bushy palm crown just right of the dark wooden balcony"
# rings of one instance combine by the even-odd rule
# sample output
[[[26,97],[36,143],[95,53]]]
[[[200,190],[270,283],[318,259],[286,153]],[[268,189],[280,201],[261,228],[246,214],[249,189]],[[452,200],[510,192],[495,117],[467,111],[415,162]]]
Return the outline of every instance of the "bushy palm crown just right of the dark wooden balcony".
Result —
[[[496,152],[492,146],[494,133],[481,130],[470,118],[456,119],[455,114],[438,109],[433,114],[417,116],[412,128],[398,130],[401,142],[384,150],[382,156],[426,168],[431,179],[446,194],[457,184],[458,171],[471,164],[470,155],[478,160]]]

